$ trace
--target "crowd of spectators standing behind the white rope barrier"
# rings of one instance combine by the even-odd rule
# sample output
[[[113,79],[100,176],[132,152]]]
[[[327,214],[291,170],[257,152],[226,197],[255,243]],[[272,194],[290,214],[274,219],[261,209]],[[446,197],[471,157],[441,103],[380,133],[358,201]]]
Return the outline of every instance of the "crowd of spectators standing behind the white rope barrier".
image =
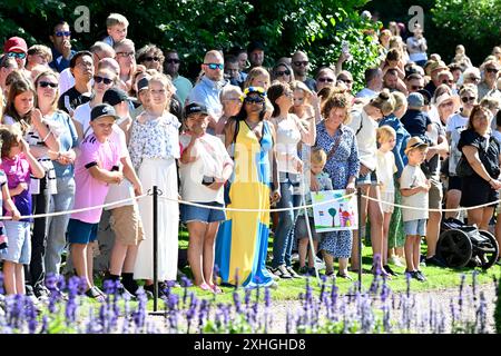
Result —
[[[315,275],[317,253],[326,276],[351,279],[362,268],[357,241],[367,235],[374,273],[391,278],[397,275],[391,266],[405,266],[423,281],[423,265],[444,267],[435,255],[442,206],[469,208],[468,222],[489,229],[501,189],[499,47],[477,68],[460,44],[445,65],[428,56],[419,24],[405,38],[404,27],[390,23],[374,37],[381,65],[366,69],[357,92],[343,69],[348,48],[313,78],[302,50],[263,67],[262,42],[209,50],[191,83],[179,75],[175,49],[136,50],[128,24],[111,13],[108,36],[82,51],[71,48],[65,21],[55,24],[51,48],[28,48],[20,37],[3,44],[7,294],[47,296],[45,278],[62,274],[68,249],[86,295],[102,299],[92,277],[100,225],[115,235],[105,279],[120,281],[131,296],[143,280],[151,293],[154,207],[144,195],[153,186],[161,191],[160,293],[178,278],[180,224],[189,234],[194,284],[216,294],[225,284],[276,287],[279,279]],[[312,191],[348,195],[357,187],[357,230],[320,234],[312,211],[298,209],[311,204]],[[271,214],[273,207],[282,209]]]

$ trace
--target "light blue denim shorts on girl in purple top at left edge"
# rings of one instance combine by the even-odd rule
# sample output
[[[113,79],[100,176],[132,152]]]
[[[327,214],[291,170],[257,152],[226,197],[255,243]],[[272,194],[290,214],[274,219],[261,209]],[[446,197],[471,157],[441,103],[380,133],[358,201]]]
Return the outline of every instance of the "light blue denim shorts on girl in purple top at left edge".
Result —
[[[31,260],[30,222],[3,221],[9,246],[0,251],[0,258],[21,265]]]

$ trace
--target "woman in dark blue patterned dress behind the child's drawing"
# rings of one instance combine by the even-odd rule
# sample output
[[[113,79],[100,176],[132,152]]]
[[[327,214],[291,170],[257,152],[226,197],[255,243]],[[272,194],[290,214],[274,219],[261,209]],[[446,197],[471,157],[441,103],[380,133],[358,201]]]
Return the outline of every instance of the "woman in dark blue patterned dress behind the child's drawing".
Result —
[[[344,93],[334,92],[322,108],[324,120],[316,128],[316,147],[327,152],[324,170],[328,174],[334,189],[355,191],[355,179],[360,170],[356,138],[346,126],[350,119],[350,101]],[[318,190],[316,177],[312,175],[312,190]],[[338,277],[351,279],[347,273],[347,259],[352,253],[352,231],[333,231],[324,234],[320,249],[325,259],[325,274],[333,275],[333,258],[340,259]]]

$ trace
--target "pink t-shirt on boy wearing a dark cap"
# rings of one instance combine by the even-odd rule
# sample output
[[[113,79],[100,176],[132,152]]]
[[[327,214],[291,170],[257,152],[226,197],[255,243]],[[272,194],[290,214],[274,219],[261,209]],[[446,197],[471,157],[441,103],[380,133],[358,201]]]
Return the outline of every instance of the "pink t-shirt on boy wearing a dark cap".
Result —
[[[75,161],[75,205],[73,209],[100,206],[108,194],[108,184],[92,178],[89,168],[98,166],[101,169],[112,170],[120,161],[119,147],[111,140],[104,144],[89,135],[80,146],[80,154]],[[97,224],[101,218],[102,208],[71,214],[72,219],[84,222]]]

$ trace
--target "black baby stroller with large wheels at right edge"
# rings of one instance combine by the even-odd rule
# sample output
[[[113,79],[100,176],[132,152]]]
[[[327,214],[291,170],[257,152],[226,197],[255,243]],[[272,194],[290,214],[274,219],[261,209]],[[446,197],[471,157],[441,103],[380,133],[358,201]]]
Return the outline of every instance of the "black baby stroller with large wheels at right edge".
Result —
[[[488,269],[495,264],[498,254],[498,241],[491,233],[479,230],[477,225],[464,225],[454,218],[442,220],[436,255],[448,267]]]

